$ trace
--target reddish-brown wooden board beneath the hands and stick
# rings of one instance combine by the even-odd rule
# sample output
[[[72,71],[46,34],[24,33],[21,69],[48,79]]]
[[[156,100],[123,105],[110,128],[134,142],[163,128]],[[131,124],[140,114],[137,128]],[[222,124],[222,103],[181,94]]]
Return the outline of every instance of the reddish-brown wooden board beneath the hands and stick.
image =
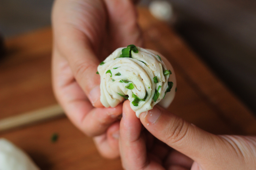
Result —
[[[177,92],[169,110],[216,134],[256,135],[253,114],[166,24],[139,9],[145,46],[168,57],[177,76]],[[0,62],[0,119],[56,104],[51,88],[50,28],[7,40]],[[59,139],[52,143],[56,132]],[[42,170],[120,170],[121,162],[97,153],[86,137],[60,117],[0,133],[26,151]]]

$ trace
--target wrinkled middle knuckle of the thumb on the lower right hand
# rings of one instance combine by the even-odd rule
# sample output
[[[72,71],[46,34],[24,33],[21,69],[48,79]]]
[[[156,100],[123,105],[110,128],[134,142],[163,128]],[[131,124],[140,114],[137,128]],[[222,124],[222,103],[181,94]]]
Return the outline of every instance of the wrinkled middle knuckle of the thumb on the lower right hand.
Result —
[[[187,123],[181,118],[176,118],[166,131],[165,140],[171,144],[178,143],[186,137],[187,131]]]

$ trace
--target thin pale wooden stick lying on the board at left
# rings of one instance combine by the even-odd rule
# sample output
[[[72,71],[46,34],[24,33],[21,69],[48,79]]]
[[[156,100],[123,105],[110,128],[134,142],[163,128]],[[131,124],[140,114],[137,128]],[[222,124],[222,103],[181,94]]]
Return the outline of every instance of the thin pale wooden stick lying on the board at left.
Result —
[[[0,132],[64,115],[58,104],[0,120]]]

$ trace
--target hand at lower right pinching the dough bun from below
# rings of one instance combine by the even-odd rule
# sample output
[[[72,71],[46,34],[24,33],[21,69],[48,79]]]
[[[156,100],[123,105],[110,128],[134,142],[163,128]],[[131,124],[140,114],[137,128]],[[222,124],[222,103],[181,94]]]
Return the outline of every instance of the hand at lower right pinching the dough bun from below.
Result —
[[[125,170],[256,169],[256,137],[213,135],[159,106],[137,119],[129,101],[123,104],[119,147]]]

